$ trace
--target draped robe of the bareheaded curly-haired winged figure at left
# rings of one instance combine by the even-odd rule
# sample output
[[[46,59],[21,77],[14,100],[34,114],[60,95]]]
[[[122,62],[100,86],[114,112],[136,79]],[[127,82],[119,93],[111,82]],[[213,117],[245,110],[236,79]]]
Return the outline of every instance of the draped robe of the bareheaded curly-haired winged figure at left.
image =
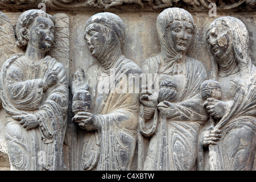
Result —
[[[57,83],[44,92],[47,69],[57,71]],[[1,69],[1,100],[6,111],[5,138],[14,170],[63,170],[63,140],[67,122],[68,83],[65,68],[51,56],[39,61],[24,54]],[[13,115],[35,114],[39,126],[26,130]]]

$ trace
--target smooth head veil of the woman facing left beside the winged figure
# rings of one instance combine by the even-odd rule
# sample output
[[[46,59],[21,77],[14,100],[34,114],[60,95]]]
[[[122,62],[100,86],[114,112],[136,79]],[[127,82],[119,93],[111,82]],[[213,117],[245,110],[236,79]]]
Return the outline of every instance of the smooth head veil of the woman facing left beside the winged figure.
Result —
[[[107,37],[104,46],[101,47],[101,52],[97,60],[101,64],[102,71],[109,73],[122,53],[122,46],[125,42],[125,24],[123,24],[119,16],[113,13],[98,13],[93,15],[87,20],[85,29],[90,24],[100,25]]]

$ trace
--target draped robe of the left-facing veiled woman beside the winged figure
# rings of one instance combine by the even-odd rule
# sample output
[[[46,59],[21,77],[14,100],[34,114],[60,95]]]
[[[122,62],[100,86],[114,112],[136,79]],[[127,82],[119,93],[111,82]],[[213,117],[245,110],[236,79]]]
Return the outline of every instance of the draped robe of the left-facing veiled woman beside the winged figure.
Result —
[[[104,75],[100,64],[95,64],[85,75],[92,96],[92,113],[100,129],[79,130],[79,169],[129,170],[133,160],[137,141],[139,94],[127,93],[134,87],[134,82],[126,78],[129,78],[129,73],[140,75],[141,69],[125,56],[120,56],[112,68],[113,75]],[[106,78],[113,84],[109,84],[106,92],[102,93],[99,90]],[[128,90],[125,89],[123,93],[113,92],[118,83],[127,83]]]

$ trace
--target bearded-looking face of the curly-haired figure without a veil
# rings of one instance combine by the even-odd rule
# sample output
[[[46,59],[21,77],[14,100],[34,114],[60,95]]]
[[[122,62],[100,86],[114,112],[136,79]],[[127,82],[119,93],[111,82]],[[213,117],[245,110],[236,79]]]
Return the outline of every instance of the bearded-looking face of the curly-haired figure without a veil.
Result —
[[[51,19],[38,16],[28,27],[29,42],[31,46],[48,51],[54,41],[54,23]]]

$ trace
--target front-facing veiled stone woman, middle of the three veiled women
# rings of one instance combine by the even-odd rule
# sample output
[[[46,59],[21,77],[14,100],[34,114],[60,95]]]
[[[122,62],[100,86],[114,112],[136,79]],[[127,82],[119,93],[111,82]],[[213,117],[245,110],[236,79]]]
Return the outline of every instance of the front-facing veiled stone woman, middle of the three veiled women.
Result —
[[[159,74],[160,83],[158,99],[151,85],[142,85],[140,127],[150,138],[143,169],[192,170],[199,131],[208,118],[200,97],[207,73],[200,61],[186,56],[195,24],[188,11],[169,8],[159,14],[156,30],[162,51],[142,66],[143,73]]]

